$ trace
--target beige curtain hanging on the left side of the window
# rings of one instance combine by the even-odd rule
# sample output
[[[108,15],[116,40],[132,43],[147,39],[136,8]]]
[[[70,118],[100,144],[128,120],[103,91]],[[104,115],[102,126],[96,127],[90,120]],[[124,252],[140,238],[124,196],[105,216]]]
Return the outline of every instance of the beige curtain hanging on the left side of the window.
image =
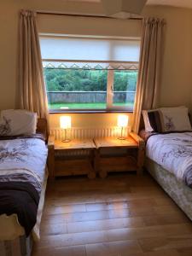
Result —
[[[48,119],[48,102],[34,12],[20,11],[19,37],[18,108],[36,112],[40,118]]]

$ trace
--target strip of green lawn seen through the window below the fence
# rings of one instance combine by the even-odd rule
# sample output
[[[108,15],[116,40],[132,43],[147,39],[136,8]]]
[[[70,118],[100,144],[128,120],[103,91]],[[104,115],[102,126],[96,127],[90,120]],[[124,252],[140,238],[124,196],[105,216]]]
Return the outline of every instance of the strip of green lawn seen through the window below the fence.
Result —
[[[133,107],[133,103],[114,103],[114,106]],[[105,109],[106,103],[49,103],[49,109]]]

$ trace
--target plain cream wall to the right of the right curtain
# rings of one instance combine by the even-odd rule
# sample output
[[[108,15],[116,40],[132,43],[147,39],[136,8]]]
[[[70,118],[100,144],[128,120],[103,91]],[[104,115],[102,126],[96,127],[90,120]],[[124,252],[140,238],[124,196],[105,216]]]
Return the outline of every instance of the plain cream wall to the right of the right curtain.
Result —
[[[160,106],[186,105],[192,111],[192,10],[148,7],[143,15],[166,19]]]

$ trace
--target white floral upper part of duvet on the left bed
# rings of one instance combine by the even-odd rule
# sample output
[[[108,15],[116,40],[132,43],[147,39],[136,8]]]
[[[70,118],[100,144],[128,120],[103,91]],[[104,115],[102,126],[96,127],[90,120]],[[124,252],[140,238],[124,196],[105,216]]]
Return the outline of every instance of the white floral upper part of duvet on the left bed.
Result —
[[[12,179],[12,174],[28,174],[41,186],[47,154],[44,141],[38,138],[0,140],[0,178],[9,175]]]

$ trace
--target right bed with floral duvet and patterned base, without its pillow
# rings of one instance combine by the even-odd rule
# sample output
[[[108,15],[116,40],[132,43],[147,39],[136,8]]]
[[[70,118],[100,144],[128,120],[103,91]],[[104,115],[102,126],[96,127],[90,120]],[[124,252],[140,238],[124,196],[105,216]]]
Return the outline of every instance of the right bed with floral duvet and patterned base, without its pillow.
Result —
[[[146,126],[142,120],[141,127]],[[192,220],[191,129],[166,132],[145,129],[140,132],[140,136],[146,142],[146,169]]]

